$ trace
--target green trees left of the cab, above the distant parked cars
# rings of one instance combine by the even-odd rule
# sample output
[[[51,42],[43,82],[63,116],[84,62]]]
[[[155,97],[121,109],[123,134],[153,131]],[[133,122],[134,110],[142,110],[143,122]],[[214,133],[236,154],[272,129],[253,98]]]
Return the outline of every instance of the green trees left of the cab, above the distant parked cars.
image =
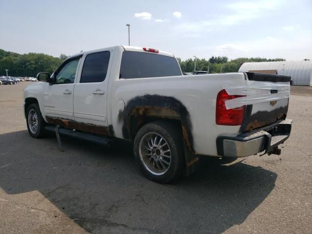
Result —
[[[0,76],[6,76],[5,69],[9,70],[8,76],[11,77],[36,77],[39,72],[51,74],[67,58],[64,54],[55,58],[39,53],[20,55],[0,49]]]

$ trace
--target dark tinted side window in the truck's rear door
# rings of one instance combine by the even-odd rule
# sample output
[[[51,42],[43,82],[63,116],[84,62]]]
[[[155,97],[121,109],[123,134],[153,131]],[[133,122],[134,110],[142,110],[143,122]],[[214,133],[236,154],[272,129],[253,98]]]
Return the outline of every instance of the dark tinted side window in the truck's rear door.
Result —
[[[101,82],[106,78],[109,51],[87,55],[84,59],[80,83]]]

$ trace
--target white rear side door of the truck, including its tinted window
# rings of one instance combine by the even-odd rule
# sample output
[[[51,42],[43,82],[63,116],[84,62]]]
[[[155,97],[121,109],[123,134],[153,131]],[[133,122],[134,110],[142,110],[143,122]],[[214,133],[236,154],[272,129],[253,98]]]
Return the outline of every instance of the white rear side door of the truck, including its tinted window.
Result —
[[[107,87],[113,50],[83,57],[74,92],[75,121],[98,126],[107,124]]]

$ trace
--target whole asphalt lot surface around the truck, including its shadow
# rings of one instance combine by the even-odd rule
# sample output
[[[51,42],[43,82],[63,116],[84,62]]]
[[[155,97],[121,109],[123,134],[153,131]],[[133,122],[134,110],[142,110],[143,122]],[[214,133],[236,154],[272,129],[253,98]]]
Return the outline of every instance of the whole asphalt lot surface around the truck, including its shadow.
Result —
[[[0,86],[1,234],[311,234],[312,87],[292,87],[282,154],[203,159],[173,185],[145,179],[132,145],[28,135],[22,91]]]

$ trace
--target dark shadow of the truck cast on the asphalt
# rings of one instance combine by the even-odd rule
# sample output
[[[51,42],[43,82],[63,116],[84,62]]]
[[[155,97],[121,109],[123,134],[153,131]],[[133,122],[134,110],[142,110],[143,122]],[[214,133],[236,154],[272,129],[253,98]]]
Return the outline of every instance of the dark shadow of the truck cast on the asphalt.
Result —
[[[194,175],[161,185],[139,173],[130,143],[62,141],[63,153],[53,135],[0,135],[0,187],[9,195],[39,191],[91,233],[222,233],[244,222],[277,177],[239,160],[206,159]]]

